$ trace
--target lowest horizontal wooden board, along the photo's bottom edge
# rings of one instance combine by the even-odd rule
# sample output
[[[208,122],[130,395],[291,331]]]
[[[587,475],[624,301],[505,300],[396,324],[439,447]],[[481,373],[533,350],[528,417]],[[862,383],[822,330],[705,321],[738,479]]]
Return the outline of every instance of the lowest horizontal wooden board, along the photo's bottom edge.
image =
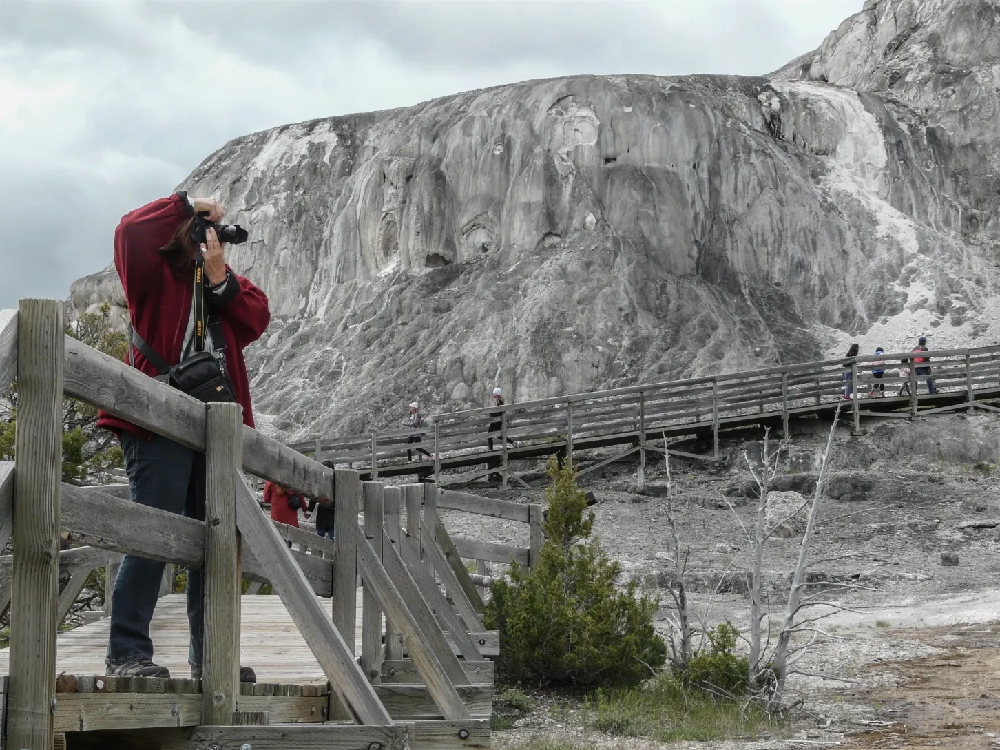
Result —
[[[408,744],[405,724],[385,727],[337,726],[203,726],[191,731],[183,741],[171,741],[163,750],[416,750]],[[428,747],[430,747],[428,745]]]

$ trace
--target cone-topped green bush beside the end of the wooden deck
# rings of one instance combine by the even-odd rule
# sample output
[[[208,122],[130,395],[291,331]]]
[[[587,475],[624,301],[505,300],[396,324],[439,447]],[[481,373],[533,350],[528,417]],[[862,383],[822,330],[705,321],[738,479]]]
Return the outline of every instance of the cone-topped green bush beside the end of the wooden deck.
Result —
[[[656,599],[636,595],[636,584],[615,586],[618,563],[591,538],[594,514],[567,462],[549,461],[548,518],[539,563],[511,565],[498,580],[486,627],[500,631],[500,674],[513,681],[582,687],[636,684],[666,659],[653,630]]]

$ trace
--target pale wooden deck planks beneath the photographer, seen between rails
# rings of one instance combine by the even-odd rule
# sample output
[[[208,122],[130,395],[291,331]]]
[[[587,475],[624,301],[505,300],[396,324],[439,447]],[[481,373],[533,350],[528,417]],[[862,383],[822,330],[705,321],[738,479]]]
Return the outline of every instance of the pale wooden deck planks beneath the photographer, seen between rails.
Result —
[[[319,597],[317,597],[319,598]],[[361,655],[361,590],[358,590],[357,643]],[[330,614],[330,600],[320,599]],[[56,637],[56,673],[104,674],[111,620],[102,618]],[[190,677],[188,624],[185,597],[170,594],[159,600],[150,626],[154,659],[170,670],[172,677]],[[9,649],[0,650],[0,674],[8,672]],[[327,678],[305,639],[277,596],[242,597],[240,617],[240,663],[253,667],[259,682],[325,684]]]

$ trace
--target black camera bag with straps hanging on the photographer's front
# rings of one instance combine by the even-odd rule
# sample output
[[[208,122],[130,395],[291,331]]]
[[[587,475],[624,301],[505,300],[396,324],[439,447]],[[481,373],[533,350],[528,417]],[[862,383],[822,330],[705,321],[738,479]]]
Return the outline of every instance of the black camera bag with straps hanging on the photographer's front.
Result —
[[[204,265],[201,258],[196,260],[194,271],[194,349],[195,353],[176,365],[170,366],[153,347],[132,328],[131,344],[160,373],[155,379],[193,396],[199,401],[236,401],[236,388],[226,372],[226,342],[222,333],[222,323],[217,317],[205,317]],[[230,284],[236,283],[233,280]],[[206,325],[207,324],[207,325]],[[212,351],[205,349],[205,330],[212,341]],[[135,367],[132,347],[129,347],[129,364]]]

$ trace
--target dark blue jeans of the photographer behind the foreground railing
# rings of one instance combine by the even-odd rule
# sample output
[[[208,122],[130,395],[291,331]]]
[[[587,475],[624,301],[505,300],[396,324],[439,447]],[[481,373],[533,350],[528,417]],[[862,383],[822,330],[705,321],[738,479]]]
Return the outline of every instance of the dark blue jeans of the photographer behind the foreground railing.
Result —
[[[205,456],[173,440],[151,441],[122,433],[122,452],[132,502],[205,520]],[[159,598],[166,563],[122,558],[111,606],[108,664],[153,658],[149,623]],[[191,628],[188,661],[200,666],[204,643],[204,584],[201,570],[188,569],[187,610]]]

